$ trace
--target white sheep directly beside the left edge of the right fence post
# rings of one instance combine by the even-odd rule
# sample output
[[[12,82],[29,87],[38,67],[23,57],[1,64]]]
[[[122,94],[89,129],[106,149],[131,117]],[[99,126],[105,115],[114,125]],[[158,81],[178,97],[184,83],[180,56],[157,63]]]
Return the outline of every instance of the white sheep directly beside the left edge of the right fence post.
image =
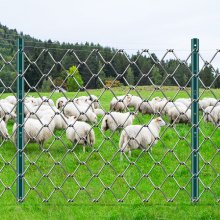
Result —
[[[175,106],[168,109],[168,117],[170,118],[170,124],[177,123],[190,123],[191,122],[191,109]]]

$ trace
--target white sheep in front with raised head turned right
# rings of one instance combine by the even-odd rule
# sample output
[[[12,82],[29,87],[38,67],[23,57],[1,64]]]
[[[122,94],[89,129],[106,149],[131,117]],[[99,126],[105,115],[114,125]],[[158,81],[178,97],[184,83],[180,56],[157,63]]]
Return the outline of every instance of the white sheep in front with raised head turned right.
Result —
[[[153,119],[148,126],[142,125],[129,125],[121,133],[119,140],[119,148],[121,153],[129,152],[131,150],[149,147],[152,150],[152,145],[156,144],[159,139],[160,127],[165,126],[162,118],[158,117]],[[121,154],[122,159],[122,154]]]

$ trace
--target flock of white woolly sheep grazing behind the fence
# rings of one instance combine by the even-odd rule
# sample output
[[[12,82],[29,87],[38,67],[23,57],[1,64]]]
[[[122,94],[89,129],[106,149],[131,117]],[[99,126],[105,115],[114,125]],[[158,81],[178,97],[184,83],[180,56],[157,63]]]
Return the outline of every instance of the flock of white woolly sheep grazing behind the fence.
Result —
[[[16,98],[8,96],[0,100],[0,138],[9,139],[7,122],[16,119]],[[110,112],[106,112],[95,95],[80,96],[69,100],[61,97],[56,100],[47,97],[26,97],[24,100],[24,144],[44,142],[54,135],[57,129],[65,129],[66,137],[73,143],[86,146],[95,144],[93,124],[97,124],[97,116],[102,115],[101,131],[122,130],[119,140],[120,151],[147,147],[152,149],[159,139],[160,128],[166,123],[162,116],[167,115],[170,123],[191,123],[191,99],[179,98],[170,101],[155,97],[151,101],[142,100],[130,94],[114,97],[110,102]],[[130,111],[133,108],[134,111]],[[220,120],[220,104],[214,98],[199,100],[199,108],[204,112],[204,120],[217,125]],[[148,125],[133,125],[137,113],[159,114]],[[13,126],[13,141],[16,142],[17,125]]]

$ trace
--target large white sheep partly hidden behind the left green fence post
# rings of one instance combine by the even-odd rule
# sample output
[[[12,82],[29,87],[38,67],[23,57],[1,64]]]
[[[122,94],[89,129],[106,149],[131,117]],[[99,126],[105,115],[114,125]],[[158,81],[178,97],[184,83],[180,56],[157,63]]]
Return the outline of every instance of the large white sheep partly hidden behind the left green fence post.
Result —
[[[55,124],[47,115],[43,118],[25,118],[24,122],[24,144],[29,142],[38,143],[43,148],[44,142],[52,137]],[[13,125],[13,139],[16,143],[17,124]]]

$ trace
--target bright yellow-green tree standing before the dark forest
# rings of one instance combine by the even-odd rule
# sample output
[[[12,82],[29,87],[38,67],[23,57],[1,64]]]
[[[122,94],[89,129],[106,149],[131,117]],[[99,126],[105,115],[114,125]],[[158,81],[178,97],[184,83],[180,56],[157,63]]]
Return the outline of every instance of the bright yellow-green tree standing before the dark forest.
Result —
[[[71,66],[68,71],[67,89],[69,92],[76,92],[83,86],[82,77],[76,66]]]

